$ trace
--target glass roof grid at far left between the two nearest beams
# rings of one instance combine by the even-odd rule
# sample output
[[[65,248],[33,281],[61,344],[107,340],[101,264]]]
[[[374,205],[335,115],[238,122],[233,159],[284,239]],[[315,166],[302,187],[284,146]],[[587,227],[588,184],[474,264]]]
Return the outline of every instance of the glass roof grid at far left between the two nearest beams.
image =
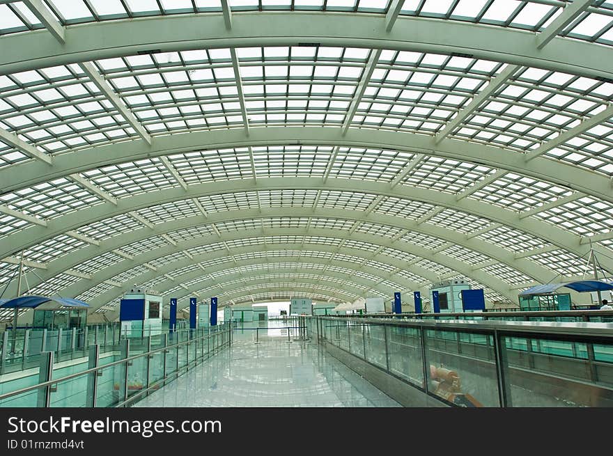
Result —
[[[36,143],[46,154],[135,134],[75,64],[0,76],[0,127]],[[26,159],[13,148],[3,148],[0,154],[0,166]]]

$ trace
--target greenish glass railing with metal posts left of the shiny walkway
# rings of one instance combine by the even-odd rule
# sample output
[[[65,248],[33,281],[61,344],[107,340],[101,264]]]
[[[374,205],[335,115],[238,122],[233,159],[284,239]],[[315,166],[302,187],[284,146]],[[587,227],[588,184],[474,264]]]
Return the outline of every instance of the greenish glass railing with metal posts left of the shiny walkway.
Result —
[[[86,368],[57,365],[39,354],[38,379],[16,391],[0,389],[0,407],[126,407],[171,382],[231,343],[231,324],[90,344]]]

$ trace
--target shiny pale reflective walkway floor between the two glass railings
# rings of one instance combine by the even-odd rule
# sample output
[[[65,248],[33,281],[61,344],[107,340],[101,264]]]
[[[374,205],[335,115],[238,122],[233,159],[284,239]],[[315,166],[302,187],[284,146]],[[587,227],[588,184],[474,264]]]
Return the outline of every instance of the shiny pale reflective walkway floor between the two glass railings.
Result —
[[[263,322],[264,323],[264,322]],[[281,329],[245,324],[217,354],[134,407],[400,407],[372,384]],[[262,324],[261,324],[262,326]]]

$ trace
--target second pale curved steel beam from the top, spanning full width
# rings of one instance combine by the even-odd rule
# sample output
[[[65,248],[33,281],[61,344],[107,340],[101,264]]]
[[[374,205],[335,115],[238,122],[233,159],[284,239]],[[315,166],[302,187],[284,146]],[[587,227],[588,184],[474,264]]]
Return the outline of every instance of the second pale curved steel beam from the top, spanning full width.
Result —
[[[0,193],[31,187],[93,168],[149,157],[192,150],[275,145],[353,146],[421,153],[512,171],[613,203],[611,183],[605,175],[558,160],[536,157],[526,162],[525,155],[519,152],[468,141],[443,139],[437,142],[433,136],[375,129],[350,128],[343,134],[338,127],[260,127],[249,129],[249,135],[245,129],[212,130],[154,136],[151,146],[139,139],[66,152],[54,156],[50,166],[40,160],[32,160],[0,170]]]

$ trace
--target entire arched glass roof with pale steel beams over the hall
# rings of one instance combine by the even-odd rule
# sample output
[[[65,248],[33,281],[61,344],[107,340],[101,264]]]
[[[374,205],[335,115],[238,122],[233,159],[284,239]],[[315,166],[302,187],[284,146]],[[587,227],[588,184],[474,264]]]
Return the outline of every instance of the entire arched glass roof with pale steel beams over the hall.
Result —
[[[613,273],[613,3],[0,1],[0,286],[114,311]]]

